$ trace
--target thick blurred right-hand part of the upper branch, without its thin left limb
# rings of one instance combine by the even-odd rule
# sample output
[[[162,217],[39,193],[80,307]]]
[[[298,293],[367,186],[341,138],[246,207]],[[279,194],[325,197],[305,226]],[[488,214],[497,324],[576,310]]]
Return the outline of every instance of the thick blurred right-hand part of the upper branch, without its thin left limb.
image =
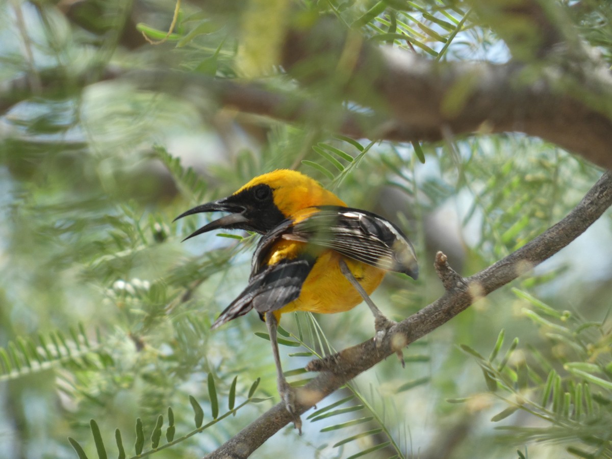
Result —
[[[435,62],[319,21],[289,33],[283,65],[305,86],[333,96],[332,88],[421,136],[410,140],[440,140],[444,129],[524,132],[612,169],[612,76],[591,56],[538,65]]]

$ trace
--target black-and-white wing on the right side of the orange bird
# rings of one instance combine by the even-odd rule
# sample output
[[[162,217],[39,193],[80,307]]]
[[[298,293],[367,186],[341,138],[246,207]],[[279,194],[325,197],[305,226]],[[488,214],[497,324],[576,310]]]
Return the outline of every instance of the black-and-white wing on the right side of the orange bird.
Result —
[[[332,248],[342,255],[386,271],[419,275],[408,237],[373,212],[340,206],[318,206],[319,212],[288,226],[282,237]]]

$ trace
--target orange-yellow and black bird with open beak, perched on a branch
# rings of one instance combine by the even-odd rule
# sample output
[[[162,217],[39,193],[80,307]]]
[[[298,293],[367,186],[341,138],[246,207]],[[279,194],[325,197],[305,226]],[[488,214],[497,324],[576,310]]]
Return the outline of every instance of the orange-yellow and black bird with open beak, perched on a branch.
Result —
[[[414,248],[405,234],[379,215],[346,204],[304,174],[276,170],[255,177],[226,198],[194,207],[230,212],[185,239],[223,228],[263,234],[253,254],[247,288],[212,324],[215,329],[252,309],[266,321],[277,368],[278,392],[300,428],[295,394],[280,365],[277,326],[291,311],[344,312],[366,300],[377,337],[391,321],[370,295],[387,271],[418,275]]]

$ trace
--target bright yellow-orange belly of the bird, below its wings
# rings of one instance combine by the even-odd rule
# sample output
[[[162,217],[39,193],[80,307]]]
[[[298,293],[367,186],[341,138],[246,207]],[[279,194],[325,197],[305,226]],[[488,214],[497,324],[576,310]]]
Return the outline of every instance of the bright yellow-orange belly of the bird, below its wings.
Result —
[[[299,244],[299,243],[298,243]],[[340,271],[338,262],[343,258],[354,277],[369,295],[383,280],[385,271],[368,264],[346,258],[338,252],[325,250],[321,253],[308,274],[300,296],[274,312],[277,319],[291,311],[316,313],[344,312],[362,302],[359,292]]]

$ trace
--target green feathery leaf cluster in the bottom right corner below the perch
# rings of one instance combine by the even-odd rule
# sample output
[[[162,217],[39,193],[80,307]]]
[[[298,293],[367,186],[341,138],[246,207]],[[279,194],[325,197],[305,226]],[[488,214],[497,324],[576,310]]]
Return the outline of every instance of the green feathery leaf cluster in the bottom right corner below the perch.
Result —
[[[524,316],[538,327],[548,345],[546,353],[532,345],[523,349],[515,338],[499,359],[502,330],[488,359],[461,346],[476,358],[488,389],[508,405],[491,422],[521,410],[548,425],[498,427],[508,439],[570,443],[567,452],[577,457],[608,457],[612,452],[610,324],[558,312],[525,291],[513,291],[524,305]]]

